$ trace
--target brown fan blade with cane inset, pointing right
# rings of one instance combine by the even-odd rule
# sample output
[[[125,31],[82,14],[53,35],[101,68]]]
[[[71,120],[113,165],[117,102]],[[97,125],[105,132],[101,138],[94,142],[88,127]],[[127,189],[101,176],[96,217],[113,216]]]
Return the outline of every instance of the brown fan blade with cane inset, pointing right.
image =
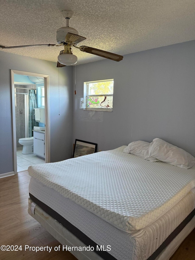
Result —
[[[107,59],[112,59],[114,61],[120,61],[123,59],[123,56],[121,56],[121,55],[118,55],[118,54],[115,54],[112,52],[102,51],[102,50],[95,49],[95,48],[88,47],[88,46],[80,46],[79,49],[82,52],[91,53],[91,54],[98,55],[98,56],[101,56],[101,57],[104,57]]]

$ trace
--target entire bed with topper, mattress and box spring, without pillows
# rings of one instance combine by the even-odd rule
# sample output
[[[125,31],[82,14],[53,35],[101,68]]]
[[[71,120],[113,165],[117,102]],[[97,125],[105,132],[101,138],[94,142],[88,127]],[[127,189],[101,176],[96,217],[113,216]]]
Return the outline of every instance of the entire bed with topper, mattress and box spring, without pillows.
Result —
[[[169,259],[195,227],[195,166],[126,147],[28,169],[29,214],[78,259]]]

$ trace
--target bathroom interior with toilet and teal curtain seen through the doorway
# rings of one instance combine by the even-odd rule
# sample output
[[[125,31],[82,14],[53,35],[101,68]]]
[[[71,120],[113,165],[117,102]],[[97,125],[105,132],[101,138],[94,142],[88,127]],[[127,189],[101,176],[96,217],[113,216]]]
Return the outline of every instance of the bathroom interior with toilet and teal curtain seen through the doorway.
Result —
[[[44,79],[14,74],[14,92],[17,172],[20,172],[27,170],[30,165],[45,163],[44,146],[43,148],[40,147],[40,143],[44,145],[45,129]],[[35,121],[34,114],[37,112],[39,118],[36,116]],[[41,118],[41,120],[40,114],[43,115],[43,119]],[[41,131],[40,134],[38,133],[39,131]],[[35,134],[39,134],[42,140],[34,138]],[[35,141],[36,143],[34,143]],[[42,151],[41,153],[39,152],[40,149]]]

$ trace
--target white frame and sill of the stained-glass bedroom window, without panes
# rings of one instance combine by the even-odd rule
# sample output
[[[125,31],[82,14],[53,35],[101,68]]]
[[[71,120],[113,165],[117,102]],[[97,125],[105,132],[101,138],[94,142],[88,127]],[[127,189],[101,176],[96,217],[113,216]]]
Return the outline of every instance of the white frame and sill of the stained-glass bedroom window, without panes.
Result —
[[[106,96],[106,97],[112,97],[113,100],[113,94],[98,94],[98,95],[93,95],[93,94],[89,94],[89,84],[90,83],[99,83],[99,82],[107,82],[107,81],[113,81],[113,93],[114,93],[114,79],[108,79],[108,80],[94,80],[94,81],[87,81],[84,82],[84,108],[83,110],[93,110],[93,111],[108,111],[108,112],[112,112],[112,108],[88,108],[87,107],[87,99],[88,97],[101,97],[101,96]]]

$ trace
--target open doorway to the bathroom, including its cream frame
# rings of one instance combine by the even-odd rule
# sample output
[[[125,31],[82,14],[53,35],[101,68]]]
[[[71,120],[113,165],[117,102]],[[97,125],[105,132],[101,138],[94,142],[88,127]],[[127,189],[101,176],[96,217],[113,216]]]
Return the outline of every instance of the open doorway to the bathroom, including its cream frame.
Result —
[[[19,77],[23,78],[22,76],[29,79],[30,82],[28,80],[24,80],[27,82],[18,82],[19,80],[17,80],[17,82],[16,82],[15,79],[18,79]],[[19,172],[19,171],[26,170],[25,168],[27,168],[27,166],[30,164],[34,165],[37,163],[41,163],[43,161],[50,162],[49,76],[45,75],[45,74],[39,74],[39,73],[11,70],[11,79],[12,79],[13,161],[14,161],[14,173],[17,174],[17,172]],[[36,79],[37,79],[37,81],[36,81]],[[41,83],[41,81],[42,81],[42,83]],[[27,83],[30,83],[30,84],[27,84]],[[44,122],[38,121],[39,123],[37,123],[37,120],[38,120],[37,119],[36,125],[33,124],[33,126],[29,126],[28,118],[27,118],[27,115],[28,115],[27,112],[29,109],[29,105],[27,105],[26,102],[27,102],[27,100],[29,100],[29,91],[30,91],[30,94],[32,94],[32,92],[36,93],[37,90],[40,91],[40,93],[41,93],[41,95],[39,97],[40,103],[38,104],[38,106],[40,107],[42,114],[44,113]],[[36,96],[36,94],[35,94],[35,96]],[[20,105],[19,102],[25,102],[25,105],[24,105],[24,103]],[[18,104],[18,107],[16,108],[17,104]],[[19,107],[19,106],[21,106],[21,107]],[[27,106],[28,106],[28,108],[27,108]],[[25,107],[26,107],[26,113],[25,113]],[[34,111],[34,110],[32,110],[32,111]],[[19,113],[19,115],[17,115],[17,113]],[[34,114],[34,112],[33,112],[33,114]],[[16,118],[16,116],[17,116],[17,118]],[[18,124],[19,118],[22,120],[21,122],[23,122],[22,123],[23,126],[20,126],[18,128],[17,124]],[[22,149],[24,149],[24,146],[23,146],[23,144],[19,144],[19,141],[18,141],[19,137],[33,139],[34,137],[31,137],[32,135],[34,135],[34,134],[32,134],[33,128],[36,128],[37,131],[40,130],[41,131],[40,134],[42,134],[42,136],[44,136],[44,138],[43,138],[44,139],[44,141],[43,141],[44,142],[44,156],[41,154],[39,155],[39,153],[37,151],[33,151],[33,146],[30,146],[31,151],[24,151],[24,150],[21,151]],[[16,134],[16,130],[17,130],[17,134]],[[30,133],[31,133],[31,135],[30,135]],[[26,141],[27,139],[22,139],[22,141],[23,140]],[[29,147],[27,148],[27,150],[29,150]],[[18,159],[18,163],[17,163],[17,159]],[[18,170],[17,170],[17,168],[18,168]]]

